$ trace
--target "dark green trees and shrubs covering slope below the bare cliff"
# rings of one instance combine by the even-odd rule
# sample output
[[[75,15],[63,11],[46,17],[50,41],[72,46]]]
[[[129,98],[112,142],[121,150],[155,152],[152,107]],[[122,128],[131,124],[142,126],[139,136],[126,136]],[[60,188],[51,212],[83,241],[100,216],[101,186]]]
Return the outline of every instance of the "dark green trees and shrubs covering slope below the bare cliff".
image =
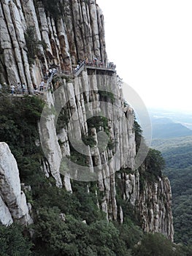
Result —
[[[123,204],[119,192],[118,202],[121,200],[125,208],[123,225],[107,222],[98,208],[103,195],[96,182],[72,181],[73,193],[69,193],[55,187],[52,177],[45,178],[41,161],[46,159],[38,146],[37,131],[42,107],[38,97],[1,96],[0,140],[7,142],[15,155],[21,181],[31,186],[26,196],[34,218],[29,227],[0,226],[1,256],[128,256],[142,255],[143,250],[145,255],[163,256],[164,248],[170,255],[191,255],[185,246],[173,251],[174,245],[161,234],[144,234],[137,225],[134,209],[127,202]],[[150,158],[154,154],[158,153],[150,152]],[[154,165],[148,163],[149,171]],[[141,244],[135,247],[139,241]]]

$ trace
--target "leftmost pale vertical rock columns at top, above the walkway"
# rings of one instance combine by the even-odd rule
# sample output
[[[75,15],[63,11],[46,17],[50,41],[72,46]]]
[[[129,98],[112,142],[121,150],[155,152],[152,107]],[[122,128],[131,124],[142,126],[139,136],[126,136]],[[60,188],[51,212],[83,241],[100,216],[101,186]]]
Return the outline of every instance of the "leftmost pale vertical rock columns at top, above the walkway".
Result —
[[[5,35],[1,37],[1,48],[4,49],[7,75],[9,83],[27,83],[32,89],[31,76],[29,72],[28,58],[26,53],[26,41],[24,29],[26,24],[21,20],[18,7],[13,1],[4,2],[1,5],[1,23],[4,23]],[[7,37],[7,38],[6,38]],[[9,48],[6,48],[4,41],[7,39]],[[9,64],[7,63],[9,61]],[[11,65],[12,64],[12,65]]]

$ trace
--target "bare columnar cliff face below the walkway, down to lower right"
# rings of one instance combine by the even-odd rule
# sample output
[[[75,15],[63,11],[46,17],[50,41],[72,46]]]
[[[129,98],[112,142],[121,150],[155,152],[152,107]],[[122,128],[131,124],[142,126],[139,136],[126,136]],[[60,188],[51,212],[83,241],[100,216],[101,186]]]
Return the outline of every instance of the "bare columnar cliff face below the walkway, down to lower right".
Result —
[[[104,102],[101,90],[104,90],[105,94],[108,93],[107,102]],[[110,94],[111,91],[113,96]],[[50,102],[52,102],[51,109],[53,106],[55,109],[53,111],[56,113],[55,118],[50,110],[47,111]],[[101,209],[107,214],[108,219],[119,219],[123,222],[123,210],[117,201],[119,196],[117,188],[118,190],[120,188],[120,196],[134,206],[143,230],[164,233],[172,240],[172,195],[169,181],[167,178],[158,177],[157,181],[149,182],[140,176],[139,170],[134,170],[136,157],[134,111],[127,105],[125,107],[124,103],[122,89],[117,86],[115,73],[112,76],[88,75],[88,71],[85,70],[69,83],[61,80],[59,89],[53,94],[47,94],[45,107],[47,113],[46,111],[42,113],[44,118],[40,124],[41,131],[50,131],[47,137],[41,132],[42,146],[47,159],[53,157],[51,153],[53,148],[54,155],[60,156],[59,161],[55,162],[60,168],[55,165],[56,173],[54,167],[50,168],[50,175],[58,177],[57,184],[71,192],[70,178],[98,181],[99,190],[104,193],[104,197],[100,198]],[[62,108],[67,111],[62,113]],[[68,118],[66,123],[60,125],[60,129],[56,129],[55,119],[60,111],[61,117],[68,116]],[[98,115],[107,118],[106,127],[101,124],[98,128],[94,123],[94,118]],[[90,121],[88,122],[90,118],[93,118],[93,128],[90,127]],[[92,138],[95,145],[91,148],[85,146],[82,143],[84,136]],[[86,167],[75,163],[77,154],[74,155],[74,149],[85,157]],[[62,165],[64,165],[63,169]],[[129,170],[129,174],[126,170]],[[144,165],[142,172],[145,172]]]

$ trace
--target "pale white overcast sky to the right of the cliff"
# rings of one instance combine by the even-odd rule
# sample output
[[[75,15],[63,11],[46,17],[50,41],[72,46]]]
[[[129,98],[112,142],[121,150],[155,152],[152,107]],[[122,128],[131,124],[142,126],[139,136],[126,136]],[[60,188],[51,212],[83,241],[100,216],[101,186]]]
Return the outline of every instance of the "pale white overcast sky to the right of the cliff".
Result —
[[[192,1],[96,2],[104,14],[108,59],[120,78],[147,108],[192,113]]]

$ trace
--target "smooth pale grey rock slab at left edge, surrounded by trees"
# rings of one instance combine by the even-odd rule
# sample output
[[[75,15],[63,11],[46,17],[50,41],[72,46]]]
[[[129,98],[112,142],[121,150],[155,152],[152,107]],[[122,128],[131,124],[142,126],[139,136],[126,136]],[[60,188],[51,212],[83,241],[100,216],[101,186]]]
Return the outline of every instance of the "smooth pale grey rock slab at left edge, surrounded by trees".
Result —
[[[9,225],[13,221],[29,224],[26,195],[20,189],[18,165],[9,146],[0,143],[0,222]]]

